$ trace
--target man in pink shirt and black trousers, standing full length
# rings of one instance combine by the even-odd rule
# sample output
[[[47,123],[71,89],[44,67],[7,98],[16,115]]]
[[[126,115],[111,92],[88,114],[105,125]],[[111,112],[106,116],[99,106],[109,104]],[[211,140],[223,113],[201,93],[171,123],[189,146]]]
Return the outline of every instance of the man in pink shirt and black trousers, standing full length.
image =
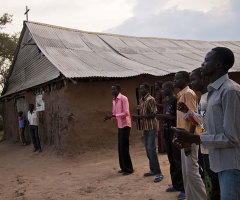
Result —
[[[131,130],[131,117],[128,98],[120,93],[121,88],[115,84],[112,86],[113,110],[112,115],[104,118],[117,119],[118,121],[118,156],[121,170],[119,173],[129,175],[133,173],[133,166],[129,154],[129,135]]]

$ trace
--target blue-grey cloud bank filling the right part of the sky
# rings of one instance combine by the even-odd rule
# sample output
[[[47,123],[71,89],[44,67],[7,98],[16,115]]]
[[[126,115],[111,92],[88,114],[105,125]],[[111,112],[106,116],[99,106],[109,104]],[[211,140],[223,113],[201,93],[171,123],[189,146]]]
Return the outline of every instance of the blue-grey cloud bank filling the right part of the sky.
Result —
[[[156,12],[170,1],[169,8]],[[177,39],[240,40],[239,0],[226,0],[228,4],[222,0],[217,0],[219,4],[216,0],[208,0],[209,4],[206,4],[205,0],[201,0],[201,9],[198,6],[200,0],[170,1],[138,0],[134,17],[105,32]],[[193,3],[185,5],[187,1],[196,3],[195,8]],[[207,11],[207,7],[211,10]]]

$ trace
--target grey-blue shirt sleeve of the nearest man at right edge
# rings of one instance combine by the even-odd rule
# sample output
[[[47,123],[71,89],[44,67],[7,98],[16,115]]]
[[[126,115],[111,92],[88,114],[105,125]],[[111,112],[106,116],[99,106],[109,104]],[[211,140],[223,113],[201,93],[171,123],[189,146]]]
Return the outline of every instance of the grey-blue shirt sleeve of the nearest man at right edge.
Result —
[[[240,143],[240,93],[228,91],[222,98],[223,131],[215,135],[207,132],[201,135],[205,148],[231,148]]]

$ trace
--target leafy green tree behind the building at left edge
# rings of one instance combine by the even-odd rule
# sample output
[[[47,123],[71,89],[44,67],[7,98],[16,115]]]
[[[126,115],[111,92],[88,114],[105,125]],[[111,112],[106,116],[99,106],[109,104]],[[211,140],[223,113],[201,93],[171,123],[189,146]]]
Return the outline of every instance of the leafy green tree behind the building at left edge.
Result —
[[[12,15],[5,13],[0,17],[0,30],[12,22]],[[7,34],[0,31],[0,90],[6,82],[9,67],[12,64],[19,34]]]

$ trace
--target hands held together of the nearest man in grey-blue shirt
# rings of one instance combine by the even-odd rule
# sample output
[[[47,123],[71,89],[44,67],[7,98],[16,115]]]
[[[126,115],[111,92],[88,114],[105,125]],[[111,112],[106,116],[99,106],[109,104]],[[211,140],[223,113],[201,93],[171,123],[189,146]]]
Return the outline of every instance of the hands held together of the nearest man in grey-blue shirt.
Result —
[[[200,144],[200,136],[192,135],[185,129],[171,128],[174,132],[173,143],[180,149],[190,147],[192,143]]]

